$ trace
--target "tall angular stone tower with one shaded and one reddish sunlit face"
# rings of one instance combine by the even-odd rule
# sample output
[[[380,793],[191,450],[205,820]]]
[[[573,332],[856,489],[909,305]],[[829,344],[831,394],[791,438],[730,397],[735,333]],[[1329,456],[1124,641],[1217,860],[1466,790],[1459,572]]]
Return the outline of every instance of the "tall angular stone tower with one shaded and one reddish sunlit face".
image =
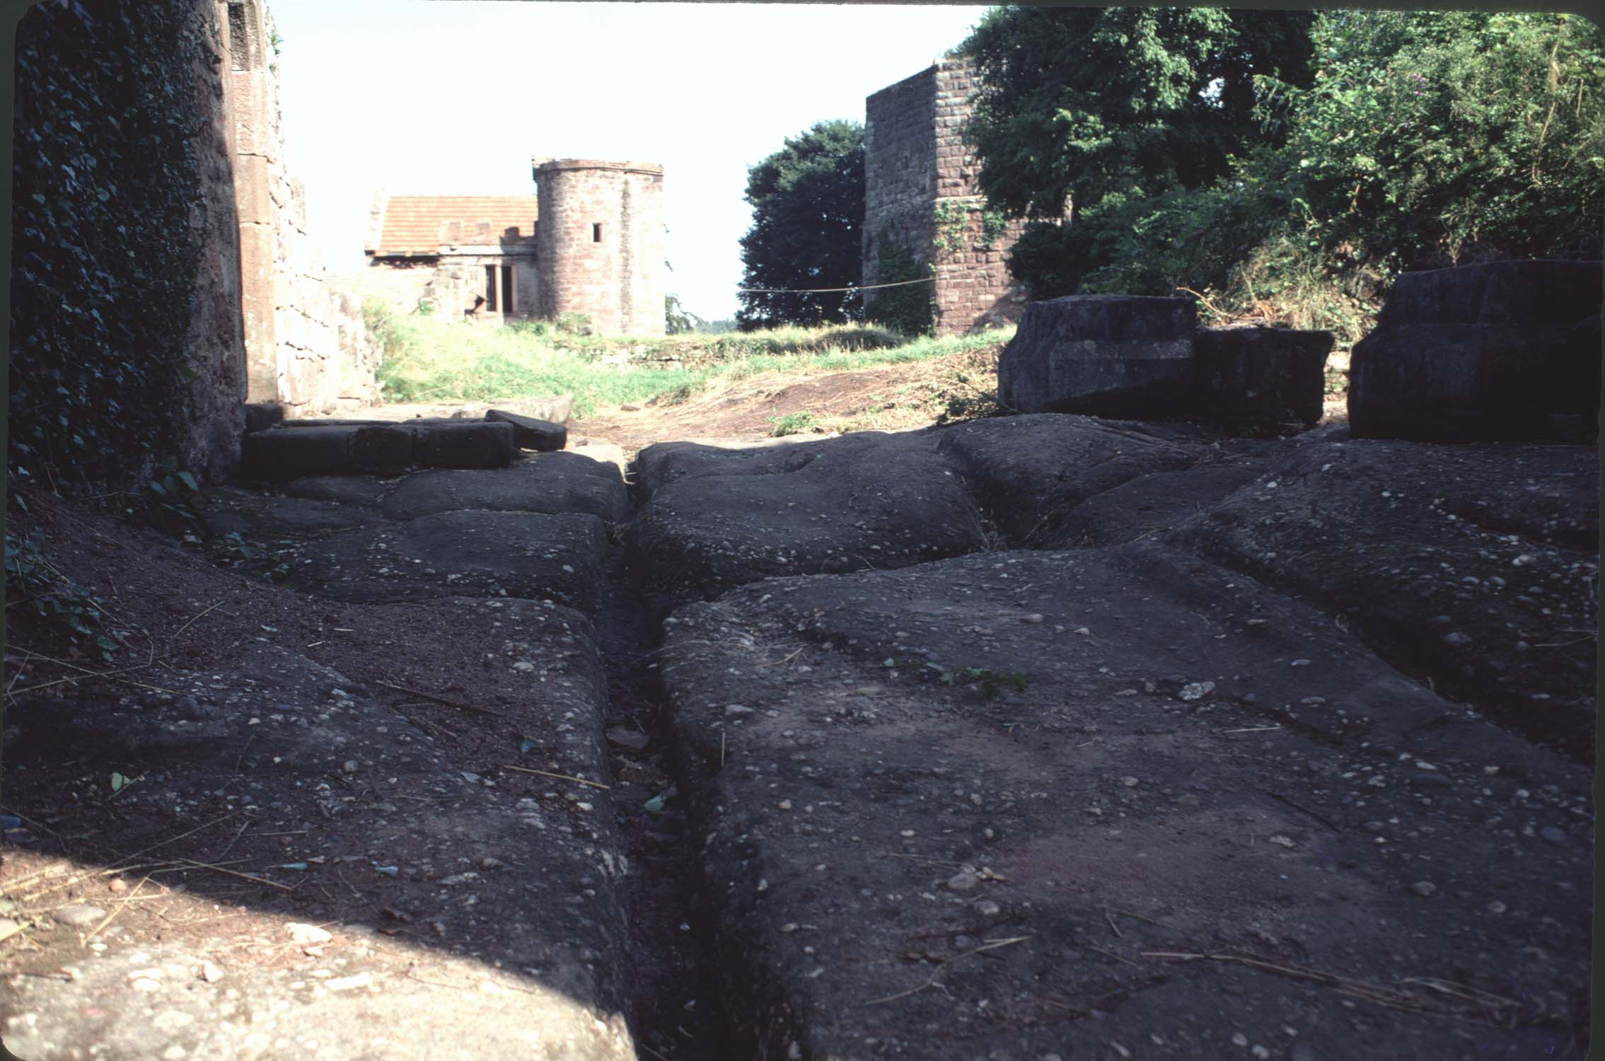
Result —
[[[973,61],[949,56],[865,100],[863,284],[883,283],[884,247],[929,265],[937,335],[1018,321],[1026,308],[1005,263],[1021,223],[985,210],[963,141],[974,90]]]

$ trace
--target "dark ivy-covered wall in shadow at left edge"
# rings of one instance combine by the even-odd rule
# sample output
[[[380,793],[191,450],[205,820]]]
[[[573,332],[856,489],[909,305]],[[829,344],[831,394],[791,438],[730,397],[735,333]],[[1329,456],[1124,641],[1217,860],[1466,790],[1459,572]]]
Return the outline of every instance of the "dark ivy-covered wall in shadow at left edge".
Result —
[[[69,0],[16,30],[13,475],[225,474],[244,427],[215,0]]]

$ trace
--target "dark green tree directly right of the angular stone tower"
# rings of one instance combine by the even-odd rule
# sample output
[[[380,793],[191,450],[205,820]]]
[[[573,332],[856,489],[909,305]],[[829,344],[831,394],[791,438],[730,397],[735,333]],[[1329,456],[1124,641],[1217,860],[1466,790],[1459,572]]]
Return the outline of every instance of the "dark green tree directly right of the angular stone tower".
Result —
[[[979,183],[1011,217],[1201,188],[1262,141],[1257,79],[1308,79],[1314,14],[993,8],[961,50],[981,91]]]

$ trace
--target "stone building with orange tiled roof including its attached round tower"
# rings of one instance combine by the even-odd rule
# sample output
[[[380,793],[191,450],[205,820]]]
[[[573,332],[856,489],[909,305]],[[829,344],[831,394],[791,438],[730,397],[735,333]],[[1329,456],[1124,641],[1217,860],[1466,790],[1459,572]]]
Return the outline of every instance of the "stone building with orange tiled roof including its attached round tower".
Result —
[[[579,315],[603,335],[661,335],[663,167],[531,161],[538,196],[374,194],[368,270],[340,283],[451,318]]]

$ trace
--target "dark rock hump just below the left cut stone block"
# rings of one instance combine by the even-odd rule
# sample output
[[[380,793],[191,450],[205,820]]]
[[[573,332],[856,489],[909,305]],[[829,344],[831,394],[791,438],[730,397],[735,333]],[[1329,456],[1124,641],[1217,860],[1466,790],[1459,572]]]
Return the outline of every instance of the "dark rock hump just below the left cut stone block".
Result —
[[[1164,429],[1087,416],[1011,416],[949,427],[937,453],[1013,544],[1058,546],[1074,509],[1140,475],[1215,456]]]

